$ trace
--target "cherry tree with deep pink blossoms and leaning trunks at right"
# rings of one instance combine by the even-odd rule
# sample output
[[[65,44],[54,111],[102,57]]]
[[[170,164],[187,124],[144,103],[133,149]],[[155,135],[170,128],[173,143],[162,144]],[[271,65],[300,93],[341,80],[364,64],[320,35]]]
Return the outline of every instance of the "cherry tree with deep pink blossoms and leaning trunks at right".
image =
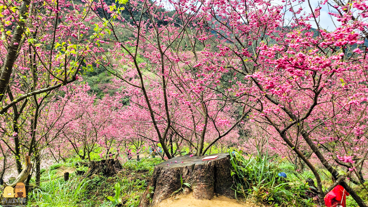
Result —
[[[206,1],[201,14],[206,19],[199,22],[203,29],[197,37],[202,39],[204,50],[211,43],[217,45],[219,51],[210,56],[226,60],[200,64],[206,70],[223,70],[214,80],[221,81],[228,71],[238,73],[230,80],[236,84],[227,87],[234,92],[231,98],[249,93],[250,121],[273,126],[274,136],[282,139],[315,175],[320,197],[325,194],[321,178],[315,164],[303,153],[305,147],[337,178],[328,190],[340,183],[360,206],[365,206],[344,179],[363,163],[367,153],[358,150],[358,146],[366,145],[367,5],[361,1],[324,4],[333,4],[337,11],[330,13],[341,24],[335,31],[321,28],[321,7],[312,8],[310,3],[308,13],[289,1],[285,6],[265,1]],[[291,21],[284,18],[287,12],[294,16]],[[316,24],[316,30],[309,21]],[[211,38],[213,34],[216,38]],[[356,112],[354,117],[346,118],[352,110]],[[346,130],[337,133],[337,125]],[[327,146],[331,144],[333,147]],[[344,157],[337,156],[339,153]],[[346,174],[337,173],[335,162],[347,166]]]

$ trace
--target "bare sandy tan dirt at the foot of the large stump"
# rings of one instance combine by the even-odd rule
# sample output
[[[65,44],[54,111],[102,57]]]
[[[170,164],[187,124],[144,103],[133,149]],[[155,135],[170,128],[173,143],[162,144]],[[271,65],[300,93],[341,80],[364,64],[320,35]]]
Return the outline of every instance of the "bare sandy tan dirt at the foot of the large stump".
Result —
[[[212,200],[197,200],[191,194],[180,195],[162,201],[156,207],[259,207],[254,203],[239,203],[235,199],[224,196],[215,196]]]

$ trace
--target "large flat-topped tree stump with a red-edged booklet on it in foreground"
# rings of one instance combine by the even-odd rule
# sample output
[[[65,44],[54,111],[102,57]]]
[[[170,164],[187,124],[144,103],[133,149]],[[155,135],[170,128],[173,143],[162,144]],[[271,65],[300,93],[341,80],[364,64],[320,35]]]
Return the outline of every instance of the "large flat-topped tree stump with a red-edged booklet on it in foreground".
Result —
[[[210,156],[214,155],[219,157],[216,160],[202,161],[202,158],[208,156],[180,156],[156,165],[139,206],[151,206],[151,199],[152,206],[155,206],[181,187],[185,189],[184,193],[192,191],[195,199],[212,199],[215,193],[233,198],[230,155],[217,153]],[[181,186],[180,176],[183,177],[183,183],[189,183],[191,188]],[[154,193],[150,193],[152,187]]]

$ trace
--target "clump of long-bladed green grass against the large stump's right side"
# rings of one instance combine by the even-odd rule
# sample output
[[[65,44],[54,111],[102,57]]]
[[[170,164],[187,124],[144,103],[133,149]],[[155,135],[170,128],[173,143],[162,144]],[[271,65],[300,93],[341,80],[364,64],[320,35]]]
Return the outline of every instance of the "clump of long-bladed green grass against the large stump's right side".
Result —
[[[230,153],[236,197],[272,206],[312,206],[312,200],[305,199],[307,186],[278,176],[281,170],[275,160],[276,156],[261,154],[259,150],[248,158]]]

